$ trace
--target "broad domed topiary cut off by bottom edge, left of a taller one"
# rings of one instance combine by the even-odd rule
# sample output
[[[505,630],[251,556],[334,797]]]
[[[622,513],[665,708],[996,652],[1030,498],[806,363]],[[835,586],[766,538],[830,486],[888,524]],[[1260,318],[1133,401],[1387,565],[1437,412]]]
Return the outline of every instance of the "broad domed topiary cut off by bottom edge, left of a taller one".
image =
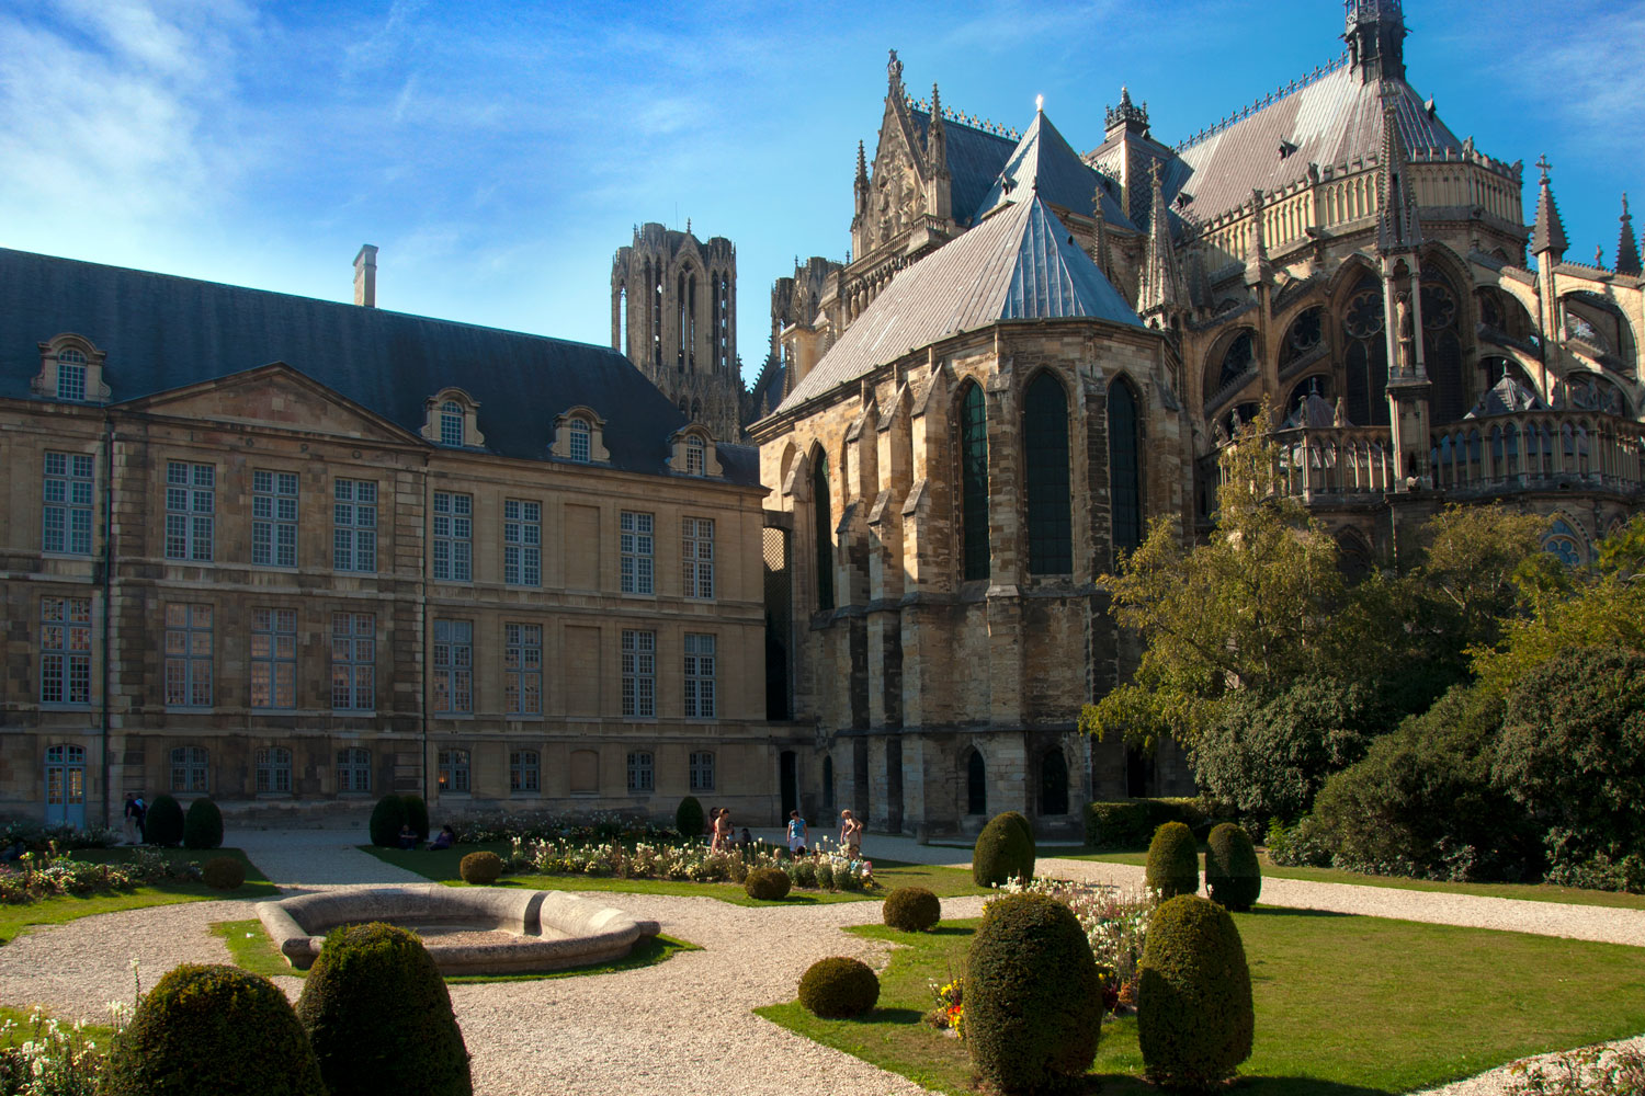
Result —
[[[313,1096],[319,1063],[286,996],[237,966],[174,966],[138,1002],[104,1096]]]

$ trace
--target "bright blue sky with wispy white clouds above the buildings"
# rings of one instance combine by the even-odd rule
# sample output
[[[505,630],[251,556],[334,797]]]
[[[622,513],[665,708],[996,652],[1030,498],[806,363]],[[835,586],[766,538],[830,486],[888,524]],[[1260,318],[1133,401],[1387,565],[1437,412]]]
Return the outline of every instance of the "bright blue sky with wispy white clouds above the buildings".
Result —
[[[1645,227],[1645,0],[1406,0],[1410,79],[1480,151],[1555,164],[1569,258]],[[661,220],[768,289],[849,246],[887,48],[908,89],[1081,150],[1120,84],[1171,143],[1334,58],[1334,0],[530,3],[10,0],[0,245],[609,342],[610,258]],[[1527,207],[1536,173],[1525,171]]]

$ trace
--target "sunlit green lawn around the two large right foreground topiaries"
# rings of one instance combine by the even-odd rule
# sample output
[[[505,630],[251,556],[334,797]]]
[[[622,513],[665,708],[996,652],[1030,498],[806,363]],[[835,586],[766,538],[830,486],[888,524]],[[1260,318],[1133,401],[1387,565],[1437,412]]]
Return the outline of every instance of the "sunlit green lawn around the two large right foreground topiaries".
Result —
[[[1257,1007],[1239,1086],[1252,1096],[1406,1093],[1645,1030],[1638,948],[1268,907],[1235,922]],[[975,923],[931,935],[850,928],[910,945],[892,955],[864,1019],[822,1020],[798,1002],[757,1012],[918,1084],[974,1093],[964,1045],[921,1015],[929,983],[962,971]],[[1135,1020],[1104,1027],[1092,1068],[1104,1096],[1155,1093],[1140,1070]]]

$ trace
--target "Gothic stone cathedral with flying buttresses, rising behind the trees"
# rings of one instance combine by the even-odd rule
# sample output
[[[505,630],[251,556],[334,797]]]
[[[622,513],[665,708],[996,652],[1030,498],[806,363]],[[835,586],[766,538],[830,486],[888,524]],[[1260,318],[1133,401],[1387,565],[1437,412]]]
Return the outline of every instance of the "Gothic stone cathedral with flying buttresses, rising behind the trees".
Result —
[[[1550,516],[1571,565],[1640,508],[1625,199],[1615,263],[1569,261],[1551,164],[1527,223],[1523,163],[1456,136],[1405,36],[1398,0],[1349,0],[1336,61],[1175,145],[1122,89],[1086,153],[1043,108],[915,99],[892,51],[850,255],[773,292],[750,427],[791,592],[768,659],[826,812],[1073,836],[1086,799],[1191,792],[1170,743],[1076,733],[1138,654],[1101,577],[1153,519],[1209,529],[1263,409],[1349,570],[1449,501]]]

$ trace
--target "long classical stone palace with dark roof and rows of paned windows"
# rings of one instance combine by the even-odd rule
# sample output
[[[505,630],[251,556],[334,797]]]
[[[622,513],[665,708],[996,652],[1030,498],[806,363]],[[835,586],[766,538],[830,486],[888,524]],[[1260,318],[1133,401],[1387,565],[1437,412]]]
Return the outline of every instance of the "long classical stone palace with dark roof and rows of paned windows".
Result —
[[[776,817],[755,452],[355,266],[349,306],[0,251],[0,808]]]

